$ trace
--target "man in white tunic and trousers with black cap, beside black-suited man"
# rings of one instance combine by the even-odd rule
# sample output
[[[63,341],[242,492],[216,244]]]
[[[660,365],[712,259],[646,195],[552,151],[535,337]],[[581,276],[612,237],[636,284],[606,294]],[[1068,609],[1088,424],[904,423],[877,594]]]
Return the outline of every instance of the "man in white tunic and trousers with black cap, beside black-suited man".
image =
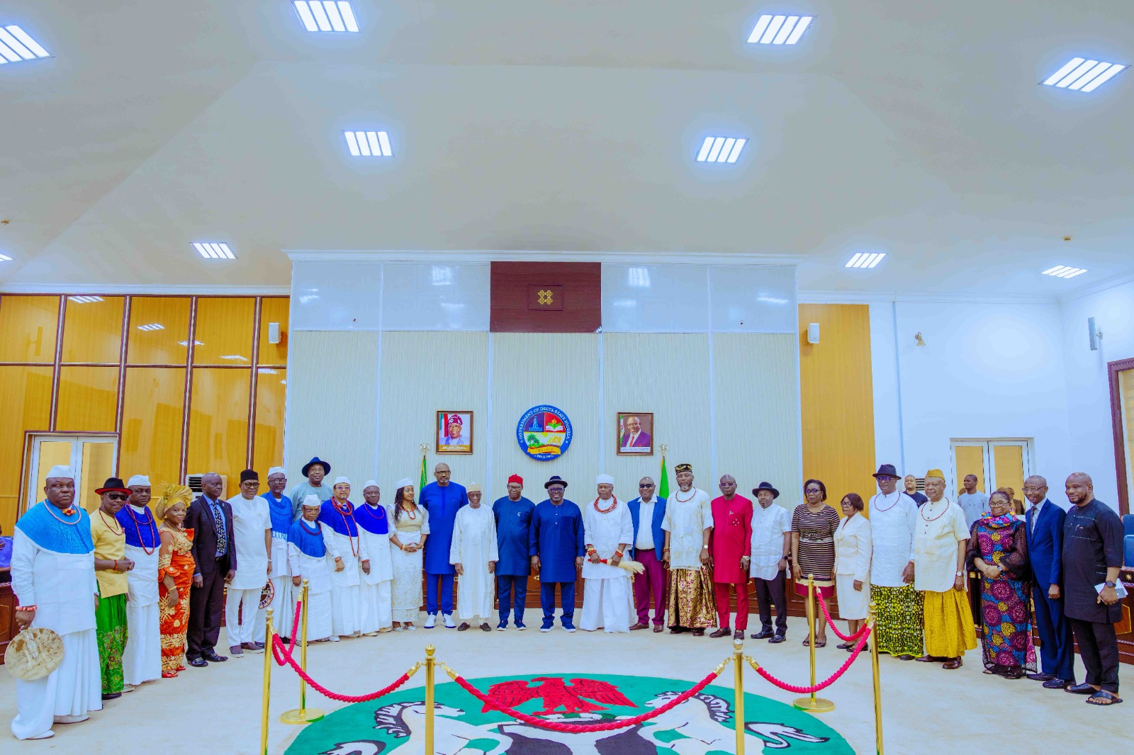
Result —
[[[240,658],[244,651],[264,650],[264,609],[260,594],[272,570],[272,518],[268,501],[256,495],[260,475],[254,469],[240,473],[240,494],[228,499],[232,507],[232,540],[240,562],[225,596],[225,628],[229,654]]]

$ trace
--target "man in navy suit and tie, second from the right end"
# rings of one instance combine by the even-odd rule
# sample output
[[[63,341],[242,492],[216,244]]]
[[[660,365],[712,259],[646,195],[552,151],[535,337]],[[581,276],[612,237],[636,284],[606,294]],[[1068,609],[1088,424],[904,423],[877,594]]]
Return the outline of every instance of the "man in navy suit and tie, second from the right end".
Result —
[[[1030,673],[1027,678],[1042,681],[1048,689],[1063,689],[1075,684],[1075,645],[1070,622],[1064,618],[1060,592],[1063,527],[1067,512],[1048,500],[1048,481],[1039,475],[1024,481],[1024,497],[1032,503],[1025,524],[1042,661],[1042,673]]]

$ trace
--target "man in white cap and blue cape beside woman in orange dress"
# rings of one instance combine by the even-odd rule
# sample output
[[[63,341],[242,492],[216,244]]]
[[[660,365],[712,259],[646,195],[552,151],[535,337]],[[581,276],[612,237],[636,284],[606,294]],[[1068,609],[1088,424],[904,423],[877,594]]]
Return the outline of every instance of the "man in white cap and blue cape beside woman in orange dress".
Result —
[[[130,497],[116,515],[126,533],[126,558],[134,568],[126,572],[126,650],[122,678],[137,686],[161,677],[161,625],[158,609],[158,557],[161,538],[150,511],[150,478],[134,475],[126,481]]]

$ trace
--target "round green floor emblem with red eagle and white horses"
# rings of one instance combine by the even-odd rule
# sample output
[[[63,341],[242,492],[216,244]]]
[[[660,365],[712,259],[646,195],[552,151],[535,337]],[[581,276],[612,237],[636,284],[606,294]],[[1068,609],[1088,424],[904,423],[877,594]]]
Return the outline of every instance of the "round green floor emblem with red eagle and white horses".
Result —
[[[612,675],[543,675],[469,679],[477,689],[532,715],[566,723],[633,718],[665,705],[688,681]],[[310,724],[288,755],[417,755],[425,752],[425,690],[404,689],[372,703],[340,709]],[[438,755],[726,755],[734,752],[733,690],[710,685],[645,723],[617,731],[566,735],[484,711],[454,682],[437,686]],[[745,752],[854,755],[837,731],[813,715],[745,694]]]

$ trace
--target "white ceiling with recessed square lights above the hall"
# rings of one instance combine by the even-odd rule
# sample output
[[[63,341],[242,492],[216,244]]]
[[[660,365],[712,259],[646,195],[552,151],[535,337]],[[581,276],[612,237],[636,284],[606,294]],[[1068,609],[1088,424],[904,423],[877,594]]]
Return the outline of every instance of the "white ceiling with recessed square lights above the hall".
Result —
[[[287,285],[284,249],[797,255],[804,290],[993,297],[1134,272],[1134,71],[1038,85],[1134,62],[1128,0],[353,5],[318,35],[287,0],[5,2],[56,57],[0,66],[0,288]],[[818,16],[795,49],[745,44],[786,9]],[[695,163],[719,129],[741,161]]]

